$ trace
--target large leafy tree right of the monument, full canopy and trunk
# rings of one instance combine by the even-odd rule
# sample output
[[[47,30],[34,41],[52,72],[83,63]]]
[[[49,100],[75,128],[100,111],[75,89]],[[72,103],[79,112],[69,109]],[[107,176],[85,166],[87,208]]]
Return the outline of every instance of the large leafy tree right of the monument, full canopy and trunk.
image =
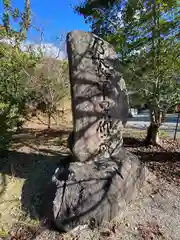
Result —
[[[180,98],[178,1],[116,1],[91,11],[86,3],[76,10],[119,53],[128,86],[150,109],[147,143],[156,144],[166,112]]]

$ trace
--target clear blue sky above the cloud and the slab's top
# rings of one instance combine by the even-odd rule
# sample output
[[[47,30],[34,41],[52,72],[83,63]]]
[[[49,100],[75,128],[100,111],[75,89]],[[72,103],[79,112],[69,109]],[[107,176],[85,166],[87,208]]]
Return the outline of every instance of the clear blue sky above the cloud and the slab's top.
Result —
[[[12,6],[23,9],[24,0],[11,0]],[[74,13],[73,6],[80,0],[31,0],[32,25],[44,28],[44,42],[58,44],[57,36],[66,34],[73,29],[88,31],[90,28],[84,23],[83,16]],[[0,15],[2,14],[2,1],[0,2]],[[38,41],[40,34],[31,29],[28,34],[29,41]]]

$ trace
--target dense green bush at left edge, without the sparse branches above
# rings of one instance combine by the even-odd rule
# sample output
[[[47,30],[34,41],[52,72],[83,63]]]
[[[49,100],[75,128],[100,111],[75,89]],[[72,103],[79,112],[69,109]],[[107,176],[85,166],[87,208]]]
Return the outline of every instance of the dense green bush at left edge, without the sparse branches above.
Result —
[[[19,129],[26,115],[30,73],[38,57],[22,52],[19,46],[0,43],[0,152],[8,149],[12,132]]]

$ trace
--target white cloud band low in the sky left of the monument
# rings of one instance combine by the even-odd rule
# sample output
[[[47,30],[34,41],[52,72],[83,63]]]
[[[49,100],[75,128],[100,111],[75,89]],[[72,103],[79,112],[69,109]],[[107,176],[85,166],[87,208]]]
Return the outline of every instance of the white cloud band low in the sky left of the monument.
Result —
[[[0,42],[4,42],[10,45],[15,45],[14,39],[0,39]],[[66,58],[66,51],[65,48],[59,49],[53,43],[34,43],[31,41],[25,41],[20,44],[22,51],[32,50],[34,52],[41,51],[45,57],[52,57],[57,59],[65,59]]]

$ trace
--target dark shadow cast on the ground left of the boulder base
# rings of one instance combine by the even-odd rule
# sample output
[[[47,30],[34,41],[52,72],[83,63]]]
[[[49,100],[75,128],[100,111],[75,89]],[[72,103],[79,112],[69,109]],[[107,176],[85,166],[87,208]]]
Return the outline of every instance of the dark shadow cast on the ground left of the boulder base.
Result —
[[[37,219],[41,213],[43,196],[47,185],[55,172],[62,165],[67,154],[58,153],[53,156],[43,154],[11,151],[6,159],[1,159],[0,173],[25,179],[21,204],[22,210]]]

